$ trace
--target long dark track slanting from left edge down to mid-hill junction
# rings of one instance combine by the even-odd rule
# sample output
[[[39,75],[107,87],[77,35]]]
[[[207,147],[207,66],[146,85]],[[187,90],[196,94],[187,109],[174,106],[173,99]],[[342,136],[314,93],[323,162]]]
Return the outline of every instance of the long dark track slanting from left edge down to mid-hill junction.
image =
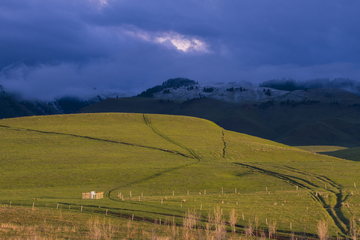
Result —
[[[180,155],[182,157],[191,158],[191,157],[189,157],[189,156],[187,156],[187,155],[185,155],[185,154],[183,154],[181,152],[178,152],[176,150],[161,149],[161,148],[149,147],[149,146],[144,146],[144,145],[139,145],[139,144],[134,144],[134,143],[127,143],[127,142],[122,142],[122,141],[94,138],[94,137],[76,135],[76,134],[71,134],[71,133],[48,132],[48,131],[35,130],[35,129],[29,129],[29,128],[12,128],[12,127],[5,126],[5,125],[0,125],[0,127],[9,128],[10,130],[13,130],[13,131],[30,131],[30,132],[37,132],[37,133],[44,133],[44,134],[55,134],[55,135],[63,135],[63,136],[85,138],[85,139],[90,139],[90,140],[95,140],[95,141],[102,141],[102,142],[109,142],[109,143],[117,143],[117,144],[122,144],[122,145],[127,145],[127,146],[141,147],[141,148],[147,148],[147,149],[172,153],[172,154]]]

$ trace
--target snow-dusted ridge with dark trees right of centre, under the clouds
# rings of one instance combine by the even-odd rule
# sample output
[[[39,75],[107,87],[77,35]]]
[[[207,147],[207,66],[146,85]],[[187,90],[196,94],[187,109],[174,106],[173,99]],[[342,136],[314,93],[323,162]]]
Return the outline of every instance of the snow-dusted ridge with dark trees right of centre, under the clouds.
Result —
[[[187,101],[194,98],[207,97],[231,103],[321,101],[353,104],[360,102],[360,97],[358,95],[341,88],[299,87],[293,91],[282,90],[283,88],[286,88],[286,84],[287,82],[283,85],[280,85],[280,83],[277,85],[263,83],[260,84],[259,87],[254,87],[251,83],[247,82],[230,82],[204,85],[186,78],[175,78],[165,81],[162,85],[157,85],[143,91],[138,97],[169,99],[173,101]],[[279,89],[264,87],[266,85],[273,85]],[[333,85],[335,86],[335,84]],[[340,84],[338,85],[341,86]]]

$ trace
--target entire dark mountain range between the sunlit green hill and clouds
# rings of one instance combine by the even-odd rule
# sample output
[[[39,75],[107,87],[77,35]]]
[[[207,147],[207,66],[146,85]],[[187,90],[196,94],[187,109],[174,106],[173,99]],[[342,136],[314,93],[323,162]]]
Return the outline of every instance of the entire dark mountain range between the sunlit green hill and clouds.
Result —
[[[111,97],[98,95],[92,100],[63,97],[41,103],[1,94],[2,118],[76,112],[186,115],[292,146],[360,146],[360,97],[340,88],[286,91],[247,82],[204,85],[174,78],[137,97],[119,98],[112,93]]]

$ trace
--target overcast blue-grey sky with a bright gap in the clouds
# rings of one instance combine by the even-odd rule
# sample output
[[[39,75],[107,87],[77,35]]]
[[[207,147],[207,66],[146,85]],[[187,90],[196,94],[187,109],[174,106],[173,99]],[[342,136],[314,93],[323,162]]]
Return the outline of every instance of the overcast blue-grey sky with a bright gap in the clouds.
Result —
[[[0,84],[50,100],[207,82],[360,76],[360,2],[1,0]]]

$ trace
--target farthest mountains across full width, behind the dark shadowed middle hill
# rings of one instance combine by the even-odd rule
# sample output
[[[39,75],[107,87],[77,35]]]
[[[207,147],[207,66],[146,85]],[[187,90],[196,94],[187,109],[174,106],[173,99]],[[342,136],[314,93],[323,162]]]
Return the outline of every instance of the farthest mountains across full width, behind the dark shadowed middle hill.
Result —
[[[337,90],[336,90],[337,89]],[[352,93],[352,94],[351,94]],[[356,94],[357,96],[353,95]],[[250,82],[216,82],[202,84],[195,80],[178,77],[164,81],[141,93],[126,91],[101,91],[92,89],[92,94],[56,97],[50,101],[27,98],[20,93],[9,92],[0,85],[1,118],[69,114],[109,98],[145,97],[184,102],[198,98],[213,98],[229,103],[260,103],[268,101],[320,101],[359,104],[360,83],[348,78],[312,79],[297,81],[294,79],[272,79],[254,86]]]

